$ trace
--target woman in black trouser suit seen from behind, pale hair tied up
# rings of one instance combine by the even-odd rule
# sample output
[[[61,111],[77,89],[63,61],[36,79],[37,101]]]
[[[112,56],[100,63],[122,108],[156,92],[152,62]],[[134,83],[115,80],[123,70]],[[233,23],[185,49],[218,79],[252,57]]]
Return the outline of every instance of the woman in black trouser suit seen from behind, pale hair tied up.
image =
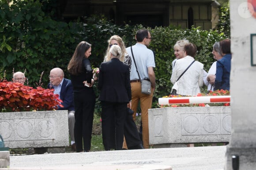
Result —
[[[102,103],[102,139],[105,150],[111,143],[111,122],[115,119],[116,150],[121,150],[124,141],[126,108],[131,108],[131,84],[129,66],[120,61],[122,55],[118,45],[109,50],[111,60],[100,65],[98,88]]]

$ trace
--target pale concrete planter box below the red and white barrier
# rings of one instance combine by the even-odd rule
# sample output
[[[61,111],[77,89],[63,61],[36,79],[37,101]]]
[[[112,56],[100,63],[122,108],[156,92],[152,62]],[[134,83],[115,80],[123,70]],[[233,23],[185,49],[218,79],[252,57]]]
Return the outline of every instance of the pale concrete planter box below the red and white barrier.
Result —
[[[230,106],[149,109],[148,123],[149,142],[154,148],[229,142],[231,109]]]

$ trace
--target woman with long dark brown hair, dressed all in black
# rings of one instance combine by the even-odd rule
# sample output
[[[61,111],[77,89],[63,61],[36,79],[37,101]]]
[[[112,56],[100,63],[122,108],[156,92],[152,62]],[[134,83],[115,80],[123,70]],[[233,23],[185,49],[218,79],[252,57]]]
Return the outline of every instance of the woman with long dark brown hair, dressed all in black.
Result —
[[[71,75],[75,106],[75,146],[76,152],[90,152],[92,124],[95,106],[93,90],[93,70],[89,56],[91,44],[80,42],[69,61],[68,71]],[[84,149],[83,149],[84,148]]]

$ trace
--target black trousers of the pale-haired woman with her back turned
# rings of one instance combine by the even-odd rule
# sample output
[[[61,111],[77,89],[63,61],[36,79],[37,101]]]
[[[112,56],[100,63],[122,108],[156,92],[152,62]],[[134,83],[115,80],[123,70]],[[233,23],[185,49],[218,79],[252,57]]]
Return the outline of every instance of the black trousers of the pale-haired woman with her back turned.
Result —
[[[127,103],[102,101],[102,140],[105,150],[121,150]]]

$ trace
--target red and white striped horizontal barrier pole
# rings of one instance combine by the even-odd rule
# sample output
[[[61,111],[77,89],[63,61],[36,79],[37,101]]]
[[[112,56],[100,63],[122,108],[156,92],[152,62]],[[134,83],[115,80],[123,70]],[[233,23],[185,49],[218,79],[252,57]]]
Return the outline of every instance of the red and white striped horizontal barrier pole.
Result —
[[[200,104],[200,103],[228,103],[230,96],[198,96],[182,98],[158,98],[159,105]]]

